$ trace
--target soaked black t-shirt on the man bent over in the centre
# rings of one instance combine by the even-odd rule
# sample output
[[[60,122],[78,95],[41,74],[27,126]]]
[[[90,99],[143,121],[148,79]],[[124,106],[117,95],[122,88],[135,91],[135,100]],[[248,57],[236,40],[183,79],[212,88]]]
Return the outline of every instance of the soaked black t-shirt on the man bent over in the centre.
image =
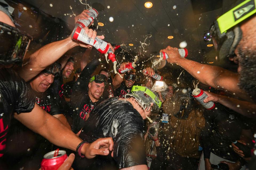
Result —
[[[76,165],[84,169],[121,169],[147,165],[143,147],[144,129],[141,115],[130,102],[116,97],[102,101],[91,112],[79,137],[89,143],[99,138],[112,137],[114,157],[110,154],[96,156],[94,159],[76,156]]]

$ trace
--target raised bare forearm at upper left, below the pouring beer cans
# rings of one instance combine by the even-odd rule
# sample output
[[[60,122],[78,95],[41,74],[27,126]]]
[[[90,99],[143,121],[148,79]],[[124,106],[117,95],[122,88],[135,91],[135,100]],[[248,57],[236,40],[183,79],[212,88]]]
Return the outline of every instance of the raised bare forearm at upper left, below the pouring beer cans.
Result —
[[[47,44],[31,54],[29,62],[18,73],[25,81],[29,81],[47,66],[57,61],[69,49],[77,45],[76,42],[72,41],[71,37]]]

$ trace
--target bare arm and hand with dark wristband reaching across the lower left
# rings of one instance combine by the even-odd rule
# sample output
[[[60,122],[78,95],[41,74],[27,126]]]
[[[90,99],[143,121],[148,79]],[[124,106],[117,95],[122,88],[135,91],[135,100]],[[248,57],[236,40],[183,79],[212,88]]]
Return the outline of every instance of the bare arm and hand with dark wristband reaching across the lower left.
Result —
[[[54,145],[75,151],[79,143],[82,142],[81,139],[79,139],[57,118],[45,112],[37,104],[35,104],[30,113],[15,113],[14,118],[29,129],[45,137]],[[84,144],[81,153],[89,159],[94,158],[95,155],[108,155],[109,150],[111,151],[113,149],[113,145],[112,138],[100,138],[93,143]],[[106,148],[109,148],[109,150]]]

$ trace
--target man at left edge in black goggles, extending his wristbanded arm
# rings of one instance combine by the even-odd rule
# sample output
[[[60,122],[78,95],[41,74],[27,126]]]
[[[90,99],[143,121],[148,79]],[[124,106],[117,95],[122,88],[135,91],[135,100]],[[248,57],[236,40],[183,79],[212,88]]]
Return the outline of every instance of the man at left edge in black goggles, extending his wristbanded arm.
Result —
[[[0,158],[4,156],[6,145],[8,146],[6,136],[13,117],[58,146],[74,151],[77,148],[79,155],[83,153],[87,158],[93,158],[96,154],[107,155],[109,150],[99,148],[110,144],[111,149],[113,145],[111,138],[99,139],[94,143],[81,146],[81,139],[57,118],[35,104],[25,81],[11,68],[14,64],[22,64],[30,43],[30,36],[14,27],[7,8],[8,4],[0,0]],[[16,44],[19,44],[18,48]],[[4,161],[1,158],[0,167],[8,169],[5,167],[7,162],[10,160]]]

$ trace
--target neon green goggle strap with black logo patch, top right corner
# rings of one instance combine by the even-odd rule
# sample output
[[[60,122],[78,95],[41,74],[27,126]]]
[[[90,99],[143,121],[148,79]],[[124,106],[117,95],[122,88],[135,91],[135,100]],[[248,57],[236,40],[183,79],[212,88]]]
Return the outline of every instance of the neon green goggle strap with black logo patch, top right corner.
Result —
[[[255,4],[256,0],[246,0],[221,15],[217,19],[221,34],[253,15],[256,12]]]

